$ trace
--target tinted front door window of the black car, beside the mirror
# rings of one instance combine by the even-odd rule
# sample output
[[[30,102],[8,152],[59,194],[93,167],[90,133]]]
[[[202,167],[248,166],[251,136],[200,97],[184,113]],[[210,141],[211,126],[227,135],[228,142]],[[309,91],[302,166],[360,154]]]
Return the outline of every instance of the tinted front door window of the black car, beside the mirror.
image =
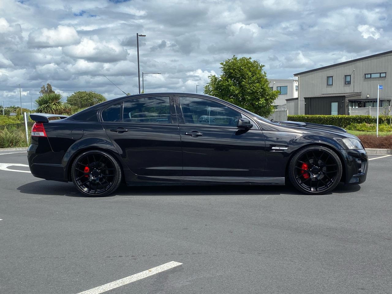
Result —
[[[236,127],[241,113],[218,102],[197,97],[180,97],[185,124]]]

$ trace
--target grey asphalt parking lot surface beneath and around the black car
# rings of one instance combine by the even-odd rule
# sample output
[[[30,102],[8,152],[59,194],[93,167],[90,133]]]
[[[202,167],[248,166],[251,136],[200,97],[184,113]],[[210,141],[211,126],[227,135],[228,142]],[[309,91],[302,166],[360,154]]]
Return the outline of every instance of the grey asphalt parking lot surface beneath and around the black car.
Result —
[[[124,186],[86,198],[34,178],[25,152],[0,152],[0,293],[391,293],[392,156],[369,157],[365,183],[322,196]]]

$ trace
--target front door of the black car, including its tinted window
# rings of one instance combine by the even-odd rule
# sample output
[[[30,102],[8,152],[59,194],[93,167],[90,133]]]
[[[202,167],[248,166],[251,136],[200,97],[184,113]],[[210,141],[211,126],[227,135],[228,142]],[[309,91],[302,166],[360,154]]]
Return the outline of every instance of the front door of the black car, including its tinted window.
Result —
[[[208,98],[176,97],[183,176],[262,177],[263,132],[237,128],[236,109]],[[180,112],[181,109],[181,112]]]

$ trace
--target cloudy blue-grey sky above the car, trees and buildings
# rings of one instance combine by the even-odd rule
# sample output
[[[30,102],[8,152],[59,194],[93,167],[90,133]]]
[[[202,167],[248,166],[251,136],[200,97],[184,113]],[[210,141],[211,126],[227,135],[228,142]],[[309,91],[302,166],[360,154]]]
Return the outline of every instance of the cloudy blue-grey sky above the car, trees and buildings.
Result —
[[[0,0],[0,101],[30,108],[50,83],[107,99],[195,93],[220,62],[252,57],[268,78],[392,50],[390,0]],[[2,102],[0,102],[2,103]]]

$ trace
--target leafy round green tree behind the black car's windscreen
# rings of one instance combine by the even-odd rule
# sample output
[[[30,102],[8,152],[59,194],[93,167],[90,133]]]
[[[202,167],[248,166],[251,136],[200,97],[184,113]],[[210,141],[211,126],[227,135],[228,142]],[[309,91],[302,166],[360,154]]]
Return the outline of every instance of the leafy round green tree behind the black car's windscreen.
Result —
[[[279,91],[271,91],[264,65],[235,55],[221,62],[221,75],[209,76],[204,93],[236,104],[260,116],[269,116]]]

